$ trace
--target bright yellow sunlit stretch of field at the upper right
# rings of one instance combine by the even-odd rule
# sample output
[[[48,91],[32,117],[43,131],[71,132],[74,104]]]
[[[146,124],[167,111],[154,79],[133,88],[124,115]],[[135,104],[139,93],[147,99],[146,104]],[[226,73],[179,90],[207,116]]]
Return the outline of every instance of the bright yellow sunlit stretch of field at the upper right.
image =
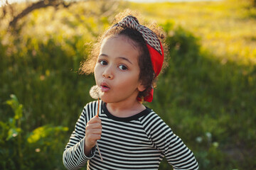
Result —
[[[255,64],[255,8],[245,1],[132,4],[146,18],[171,22],[201,38],[203,48],[225,64]]]

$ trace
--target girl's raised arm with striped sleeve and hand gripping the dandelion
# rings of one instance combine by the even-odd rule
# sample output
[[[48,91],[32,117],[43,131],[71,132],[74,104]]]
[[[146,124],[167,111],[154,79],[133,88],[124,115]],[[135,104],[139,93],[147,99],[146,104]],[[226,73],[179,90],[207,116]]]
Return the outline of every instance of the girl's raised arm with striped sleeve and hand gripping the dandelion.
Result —
[[[95,141],[99,138],[99,133],[101,134],[101,130],[97,130],[97,128],[101,128],[101,125],[98,124],[101,124],[99,118],[92,118],[95,114],[95,111],[87,104],[75,124],[75,130],[63,152],[63,164],[66,169],[80,169],[95,156]]]

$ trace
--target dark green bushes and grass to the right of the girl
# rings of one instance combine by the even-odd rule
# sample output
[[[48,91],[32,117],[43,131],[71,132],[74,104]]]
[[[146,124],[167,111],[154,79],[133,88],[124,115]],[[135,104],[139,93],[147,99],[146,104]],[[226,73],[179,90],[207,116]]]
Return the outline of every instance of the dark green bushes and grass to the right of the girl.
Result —
[[[253,169],[256,67],[221,64],[180,27],[166,43],[169,68],[149,107],[193,150],[200,169]]]

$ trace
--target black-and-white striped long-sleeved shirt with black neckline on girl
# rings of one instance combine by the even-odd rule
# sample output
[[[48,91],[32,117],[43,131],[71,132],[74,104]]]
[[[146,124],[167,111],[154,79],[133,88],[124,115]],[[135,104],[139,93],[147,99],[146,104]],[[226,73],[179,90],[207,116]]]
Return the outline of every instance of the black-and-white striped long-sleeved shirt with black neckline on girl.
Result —
[[[95,147],[90,157],[84,153],[86,123],[97,114],[97,101],[88,103],[82,111],[75,130],[63,152],[67,169],[80,169],[87,162],[87,169],[158,169],[166,160],[174,169],[198,169],[198,163],[188,147],[171,128],[146,108],[129,118],[117,118],[107,111],[100,101],[102,136],[97,143],[103,161]]]

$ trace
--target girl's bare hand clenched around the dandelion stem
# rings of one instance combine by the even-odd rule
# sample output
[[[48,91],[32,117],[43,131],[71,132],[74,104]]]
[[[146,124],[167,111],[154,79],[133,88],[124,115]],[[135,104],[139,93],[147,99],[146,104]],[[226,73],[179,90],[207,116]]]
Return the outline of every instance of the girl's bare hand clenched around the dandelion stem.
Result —
[[[99,117],[95,116],[87,122],[85,128],[85,155],[90,155],[90,150],[100,140],[102,134],[102,124]]]

